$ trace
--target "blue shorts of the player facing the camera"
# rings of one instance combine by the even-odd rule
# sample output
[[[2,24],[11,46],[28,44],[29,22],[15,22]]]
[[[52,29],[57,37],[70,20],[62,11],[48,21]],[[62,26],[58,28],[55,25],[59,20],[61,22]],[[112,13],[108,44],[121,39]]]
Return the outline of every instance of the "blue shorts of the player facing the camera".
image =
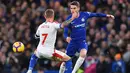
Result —
[[[80,52],[81,49],[88,50],[86,40],[71,41],[66,48],[66,54],[69,56],[74,56],[75,53]]]

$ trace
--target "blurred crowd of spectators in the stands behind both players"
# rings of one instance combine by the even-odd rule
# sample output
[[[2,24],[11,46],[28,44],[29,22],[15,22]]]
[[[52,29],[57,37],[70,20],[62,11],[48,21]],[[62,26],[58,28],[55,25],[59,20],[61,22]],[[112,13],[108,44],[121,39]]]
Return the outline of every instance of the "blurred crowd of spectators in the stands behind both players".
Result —
[[[0,73],[25,73],[38,44],[34,35],[45,21],[47,8],[62,22],[70,14],[73,0],[0,0]],[[81,11],[112,14],[115,20],[91,18],[86,22],[89,44],[87,58],[77,73],[130,73],[130,0],[79,0]],[[65,52],[63,29],[58,30],[56,49]],[[13,53],[12,44],[21,41],[25,52]],[[77,59],[77,54],[73,57]],[[61,63],[39,59],[38,73],[59,70]]]

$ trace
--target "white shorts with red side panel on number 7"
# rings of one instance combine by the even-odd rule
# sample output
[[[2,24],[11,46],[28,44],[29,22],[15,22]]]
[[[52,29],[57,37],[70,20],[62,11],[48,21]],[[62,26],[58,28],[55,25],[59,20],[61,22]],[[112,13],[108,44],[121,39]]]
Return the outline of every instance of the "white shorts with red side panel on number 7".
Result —
[[[53,60],[61,60],[65,56],[65,53],[48,47],[38,48],[34,53],[38,58],[47,58]]]

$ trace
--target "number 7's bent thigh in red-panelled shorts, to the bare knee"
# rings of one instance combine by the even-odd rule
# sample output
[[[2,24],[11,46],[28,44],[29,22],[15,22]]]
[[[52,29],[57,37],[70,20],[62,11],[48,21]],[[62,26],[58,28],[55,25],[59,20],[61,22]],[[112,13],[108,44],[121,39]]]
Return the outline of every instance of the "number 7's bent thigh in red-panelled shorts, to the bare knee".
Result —
[[[70,57],[61,51],[55,50],[53,53],[53,59],[57,61],[68,61]]]

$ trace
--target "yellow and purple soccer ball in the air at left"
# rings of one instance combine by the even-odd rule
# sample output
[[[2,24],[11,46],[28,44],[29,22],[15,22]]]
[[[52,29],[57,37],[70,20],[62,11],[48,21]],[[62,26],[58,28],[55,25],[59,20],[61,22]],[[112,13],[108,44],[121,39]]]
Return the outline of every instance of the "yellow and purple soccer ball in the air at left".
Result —
[[[22,42],[15,42],[13,44],[13,51],[17,53],[24,52],[24,44]]]

